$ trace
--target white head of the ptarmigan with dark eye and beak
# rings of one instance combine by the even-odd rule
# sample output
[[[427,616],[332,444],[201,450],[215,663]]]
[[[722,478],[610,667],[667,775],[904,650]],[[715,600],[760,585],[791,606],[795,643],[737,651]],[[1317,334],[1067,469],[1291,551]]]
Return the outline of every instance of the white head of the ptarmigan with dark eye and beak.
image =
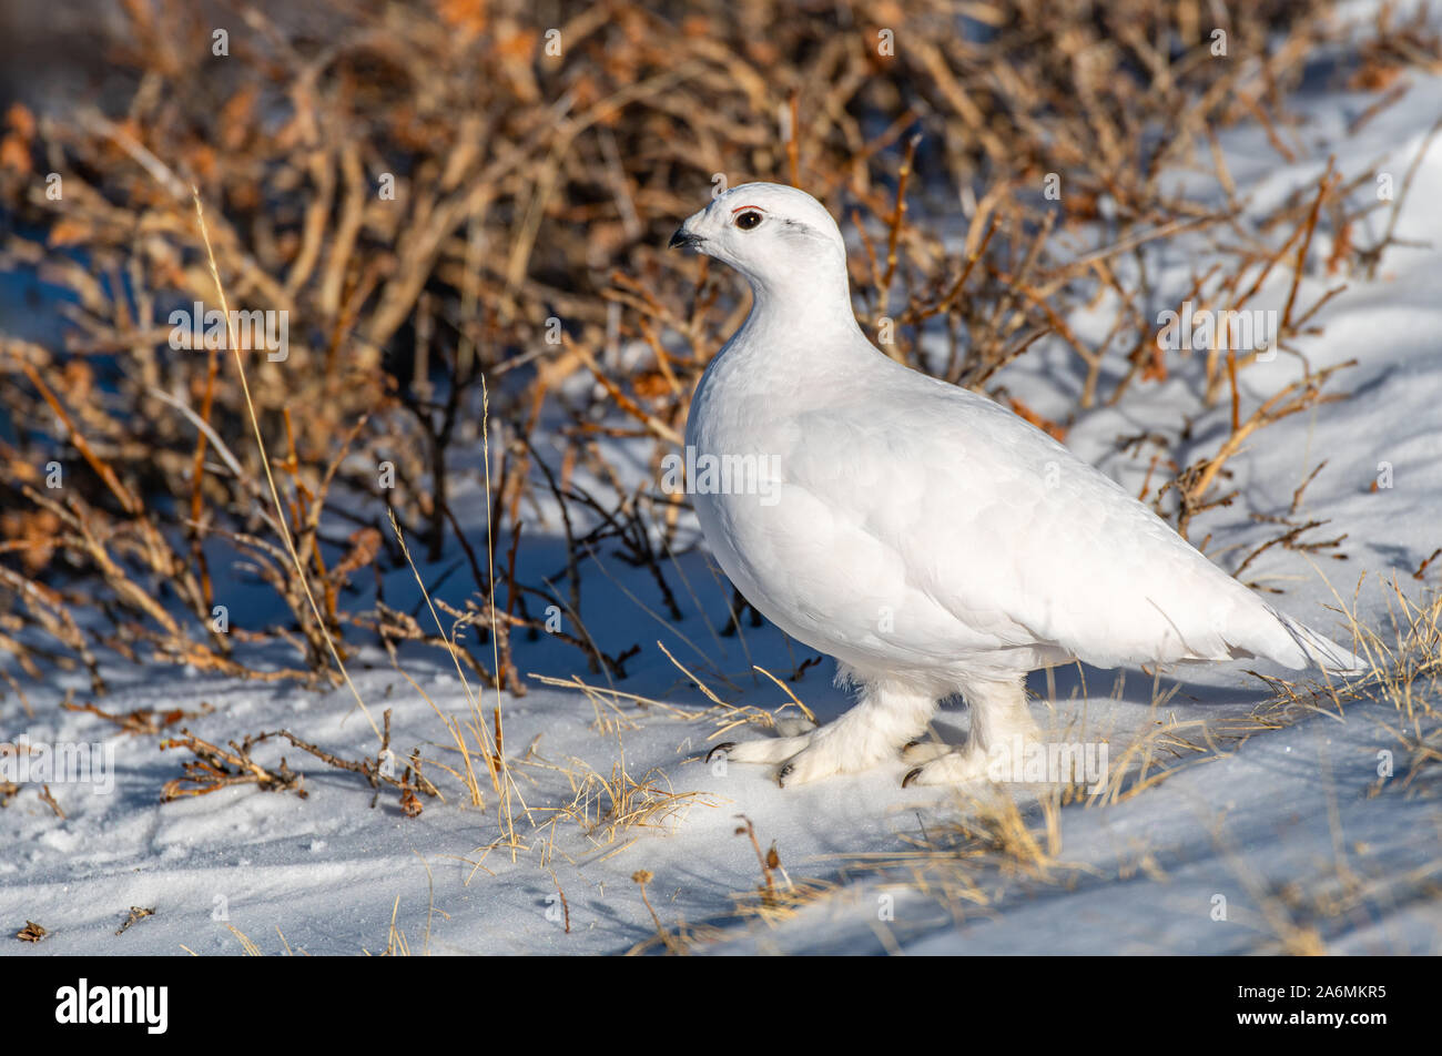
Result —
[[[757,293],[846,289],[846,244],[831,214],[805,190],[743,183],[717,195],[671,237],[671,248],[730,264]]]

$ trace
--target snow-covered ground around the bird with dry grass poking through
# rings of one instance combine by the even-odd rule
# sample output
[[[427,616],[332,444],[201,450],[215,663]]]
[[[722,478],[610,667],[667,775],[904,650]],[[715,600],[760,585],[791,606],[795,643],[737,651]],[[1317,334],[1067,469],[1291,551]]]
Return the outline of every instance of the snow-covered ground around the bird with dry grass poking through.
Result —
[[[1406,98],[1357,136],[1347,127],[1376,97],[1304,94],[1295,105],[1306,118],[1299,137],[1305,154],[1295,163],[1285,163],[1259,127],[1226,134],[1239,195],[1266,209],[1289,190],[1315,185],[1330,154],[1345,176],[1387,172],[1400,186],[1442,98],[1442,78],[1407,76],[1413,87]],[[1200,159],[1198,170],[1210,170],[1210,160]],[[1335,384],[1351,398],[1259,433],[1229,466],[1244,502],[1207,515],[1194,532],[1210,532],[1208,553],[1234,567],[1240,554],[1276,534],[1247,511],[1286,512],[1295,489],[1325,459],[1302,512],[1330,521],[1325,537],[1345,534],[1348,560],[1273,547],[1247,571],[1285,590],[1273,597],[1280,609],[1344,643],[1350,632],[1324,606],[1335,606],[1338,596],[1350,604],[1364,573],[1357,615],[1379,629],[1390,623],[1390,589],[1380,577],[1396,573],[1403,591],[1420,600],[1439,574],[1436,566],[1425,581],[1410,574],[1442,547],[1439,201],[1442,141],[1433,141],[1397,224],[1400,238],[1425,245],[1390,250],[1377,278],[1353,280],[1318,317],[1324,335],[1302,343],[1314,368],[1358,361]],[[1360,241],[1380,234],[1381,216]],[[1154,280],[1180,296],[1191,261],[1168,257],[1185,254],[1185,242],[1168,245],[1155,257]],[[1262,307],[1280,307],[1288,283],[1288,276],[1275,277]],[[1325,289],[1325,276],[1309,276],[1302,303]],[[1086,319],[1073,323],[1086,332]],[[1246,369],[1243,408],[1295,371],[1288,356]],[[1043,414],[1063,405],[1076,384],[1060,349],[1038,349],[1001,379]],[[1119,453],[1118,437],[1142,430],[1174,437],[1182,415],[1198,410],[1194,382],[1181,372],[1115,408],[1092,411],[1069,443],[1139,490],[1146,457]],[[1193,450],[1213,450],[1226,430],[1227,407],[1207,411],[1195,420]],[[1383,463],[1392,486],[1374,489]],[[483,493],[472,486],[456,505],[483,532]],[[559,540],[558,525],[549,531]],[[529,578],[552,574],[559,553],[559,541],[532,545]],[[607,652],[645,646],[616,688],[665,705],[630,697],[597,704],[604,692],[535,681],[525,697],[502,701],[506,749],[526,804],[515,808],[519,850],[497,845],[486,780],[487,802],[474,808],[431,767],[446,802],[425,801],[424,812],[410,818],[394,791],[372,805],[372,791],[356,775],[273,743],[257,749],[257,759],[277,765],[284,754],[304,773],[309,798],[229,788],[160,804],[162,786],[180,776],[186,752],[157,752],[157,737],[115,734],[91,714],[61,710],[66,688],[91,700],[81,677],[27,687],[33,717],[10,694],[0,704],[3,740],[25,733],[32,743],[104,742],[114,746],[115,769],[108,793],[52,783],[63,818],[32,786],[0,809],[0,932],[13,935],[26,920],[49,930],[35,945],[6,938],[0,952],[239,954],[252,942],[265,954],[402,945],[412,954],[614,954],[656,939],[653,913],[695,952],[1442,952],[1442,789],[1435,766],[1406,780],[1406,723],[1393,704],[1358,701],[1344,714],[1321,708],[1266,721],[1266,710],[1257,708],[1268,694],[1246,664],[1187,671],[1180,687],[1178,672],[1154,685],[1139,671],[1119,678],[1070,668],[1051,684],[1044,675],[1032,679],[1034,692],[1051,705],[1050,718],[1047,708],[1035,708],[1044,724],[1066,730],[1069,740],[1105,740],[1113,762],[1146,736],[1156,765],[1178,770],[1118,802],[1076,802],[1054,812],[1021,788],[1012,791],[1019,814],[945,791],[903,789],[900,762],[780,789],[761,769],[702,760],[717,740],[717,710],[656,642],[728,703],[767,710],[787,697],[751,665],[784,681],[813,654],[770,628],[746,625],[740,636],[722,636],[730,587],[704,550],[678,563],[686,613],[679,623],[653,615],[659,603],[645,571],[606,553],[609,576],[588,573],[585,593],[587,626],[603,629]],[[395,576],[401,591],[410,571]],[[679,587],[682,577],[673,578]],[[450,594],[456,600],[464,596],[459,580]],[[577,675],[604,690],[604,677],[588,674],[581,661],[557,642],[519,645],[523,674]],[[441,713],[472,714],[443,656],[407,654],[404,668]],[[352,672],[373,713],[394,710],[398,752],[423,746],[428,759],[456,763],[433,704],[382,652],[362,654]],[[375,752],[371,727],[345,688],[317,695],[287,684],[120,664],[110,675],[115,691],[97,700],[99,707],[198,713],[177,727],[209,742],[284,727],[350,759]],[[829,677],[826,662],[787,682],[822,720],[848,705]],[[1165,700],[1154,704],[1158,695]],[[489,716],[493,704],[483,690],[482,713]],[[965,711],[947,710],[940,733],[957,740],[965,723]],[[1394,759],[1390,779],[1379,776],[1380,752]],[[614,788],[619,767],[650,789],[630,801],[646,809],[643,824],[590,824],[610,808],[604,793],[593,798],[588,821],[561,811],[587,773]],[[738,834],[738,815],[754,825],[763,851],[774,842],[780,868],[773,881],[783,905],[767,906],[758,894],[763,871],[751,840]],[[970,840],[960,834],[966,818]],[[1011,828],[1017,818],[1040,844],[1027,848]],[[645,900],[634,880],[642,870],[650,874]],[[117,935],[131,906],[154,915]],[[659,949],[659,941],[649,948]]]

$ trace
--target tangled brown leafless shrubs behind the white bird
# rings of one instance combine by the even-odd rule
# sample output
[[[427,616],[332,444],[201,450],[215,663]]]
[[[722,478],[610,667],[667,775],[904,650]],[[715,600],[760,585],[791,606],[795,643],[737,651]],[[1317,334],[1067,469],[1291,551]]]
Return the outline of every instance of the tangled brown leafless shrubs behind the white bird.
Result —
[[[705,263],[659,254],[715,173],[792,180],[844,212],[861,238],[858,314],[883,348],[1053,433],[1195,374],[1203,405],[1230,401],[1231,428],[1190,462],[1156,452],[1171,478],[1155,501],[1185,534],[1234,499],[1226,463],[1252,434],[1340,398],[1340,368],[1304,369],[1243,408],[1237,375],[1263,351],[1203,349],[1200,374],[1194,353],[1164,352],[1154,317],[1172,306],[1155,302],[1141,250],[1210,247],[1195,252],[1198,309],[1243,310],[1289,284],[1269,351],[1299,356],[1293,340],[1340,289],[1304,306],[1302,277],[1370,267],[1394,231],[1366,252],[1361,232],[1374,214],[1394,218],[1410,183],[1367,201],[1367,175],[1328,169],[1262,216],[1231,189],[1220,128],[1260,121],[1278,157],[1295,156],[1286,97],[1334,42],[1324,4],[1249,6],[1213,26],[1195,3],[1014,0],[969,7],[972,35],[937,32],[952,13],[930,1],[799,12],[767,35],[722,4],[613,1],[554,26],[479,3],[335,6],[306,26],[234,14],[216,56],[183,4],[128,4],[128,97],[107,113],[7,117],[3,260],[74,297],[59,343],[12,336],[0,352],[14,436],[0,449],[0,646],[32,678],[82,665],[101,691],[97,658],[118,654],[324,685],[366,642],[451,651],[386,596],[404,563],[388,511],[428,564],[450,563],[428,576],[469,573],[474,593],[450,612],[474,629],[459,654],[482,682],[523,692],[513,641],[548,630],[593,672],[623,677],[640,646],[585,626],[583,573],[613,547],[650,571],[655,593],[639,600],[679,619],[684,496],[622,483],[597,440],[649,441],[655,467],[744,307]],[[1394,20],[1360,63],[1390,84],[1432,48],[1419,23]],[[1169,189],[1198,151],[1221,199]],[[192,185],[209,205],[213,276]],[[942,203],[957,199],[956,232],[911,219],[917,206],[956,215]],[[286,313],[284,358],[229,319],[226,340],[170,323],[218,307],[218,289],[236,310]],[[1112,326],[1083,340],[1066,320],[1099,297]],[[999,381],[1047,343],[1076,359],[1060,415]],[[454,498],[482,418],[477,527]],[[565,567],[518,581],[538,531],[564,532]],[[236,567],[274,609],[228,604]],[[557,603],[559,632],[539,612]],[[294,664],[247,648],[267,642]]]

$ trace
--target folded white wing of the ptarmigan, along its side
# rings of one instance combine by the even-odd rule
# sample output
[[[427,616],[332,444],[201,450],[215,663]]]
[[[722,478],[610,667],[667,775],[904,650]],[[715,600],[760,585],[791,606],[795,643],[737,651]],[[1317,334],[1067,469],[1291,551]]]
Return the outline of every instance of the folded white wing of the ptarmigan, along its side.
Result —
[[[1299,625],[1041,430],[906,368],[888,381],[797,415],[782,475],[968,630],[1099,666],[1312,659]]]

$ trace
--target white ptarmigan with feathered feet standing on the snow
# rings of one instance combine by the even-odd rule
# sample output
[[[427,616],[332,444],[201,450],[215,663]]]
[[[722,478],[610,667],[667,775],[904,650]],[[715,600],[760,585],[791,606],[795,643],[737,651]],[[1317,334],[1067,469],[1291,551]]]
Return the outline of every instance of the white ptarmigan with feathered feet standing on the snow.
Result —
[[[841,231],[810,195],[733,188],[671,245],[730,264],[754,293],[696,388],[686,444],[688,460],[766,476],[751,493],[689,489],[707,544],[756,609],[859,691],[803,736],[722,746],[733,762],[780,765],[789,785],[904,759],[903,783],[949,783],[1037,737],[1035,668],[1358,668],[1041,430],[872,346]],[[957,692],[966,746],[914,743]]]

